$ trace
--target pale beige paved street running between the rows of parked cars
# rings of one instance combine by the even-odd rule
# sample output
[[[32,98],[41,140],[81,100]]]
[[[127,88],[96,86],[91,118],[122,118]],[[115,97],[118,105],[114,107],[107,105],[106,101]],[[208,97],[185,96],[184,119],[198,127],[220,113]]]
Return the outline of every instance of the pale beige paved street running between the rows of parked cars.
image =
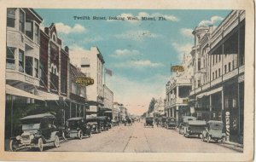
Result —
[[[185,138],[176,130],[144,128],[143,122],[132,126],[119,125],[83,140],[61,142],[59,148],[46,151],[127,152],[127,153],[236,153],[212,142],[201,142],[197,137]]]

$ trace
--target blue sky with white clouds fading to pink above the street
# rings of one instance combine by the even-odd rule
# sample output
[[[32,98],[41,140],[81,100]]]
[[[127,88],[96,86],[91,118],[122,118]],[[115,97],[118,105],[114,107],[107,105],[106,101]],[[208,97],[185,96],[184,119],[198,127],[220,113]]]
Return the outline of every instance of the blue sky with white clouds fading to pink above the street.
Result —
[[[113,101],[129,113],[141,115],[154,97],[165,98],[171,65],[189,54],[196,26],[218,26],[230,10],[174,9],[35,9],[43,18],[41,28],[55,23],[63,47],[71,52],[100,49],[105,65],[113,75],[106,84]],[[84,19],[74,19],[74,16]],[[106,20],[93,20],[93,16]],[[125,20],[109,20],[125,17]],[[127,17],[138,20],[127,20]],[[90,20],[85,19],[90,17]],[[154,17],[155,20],[142,20]],[[166,20],[159,20],[164,17]]]

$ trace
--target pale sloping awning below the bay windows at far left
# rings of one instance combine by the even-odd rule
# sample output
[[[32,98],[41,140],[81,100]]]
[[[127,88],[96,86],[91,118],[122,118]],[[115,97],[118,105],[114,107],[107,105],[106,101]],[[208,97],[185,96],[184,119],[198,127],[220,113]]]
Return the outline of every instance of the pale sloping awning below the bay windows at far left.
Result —
[[[6,94],[9,94],[9,95],[23,96],[23,97],[26,97],[26,98],[32,98],[32,99],[44,101],[43,97],[31,94],[29,92],[26,92],[25,90],[17,89],[13,86],[10,86],[9,84],[5,85],[5,92],[6,92]]]

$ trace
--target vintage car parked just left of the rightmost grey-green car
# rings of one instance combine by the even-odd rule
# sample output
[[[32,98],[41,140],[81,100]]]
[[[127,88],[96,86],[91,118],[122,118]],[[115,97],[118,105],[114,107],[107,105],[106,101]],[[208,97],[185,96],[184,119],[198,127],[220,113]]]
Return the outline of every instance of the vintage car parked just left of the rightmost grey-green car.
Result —
[[[202,130],[205,129],[207,122],[204,120],[189,120],[183,125],[183,136],[198,136],[200,137]]]

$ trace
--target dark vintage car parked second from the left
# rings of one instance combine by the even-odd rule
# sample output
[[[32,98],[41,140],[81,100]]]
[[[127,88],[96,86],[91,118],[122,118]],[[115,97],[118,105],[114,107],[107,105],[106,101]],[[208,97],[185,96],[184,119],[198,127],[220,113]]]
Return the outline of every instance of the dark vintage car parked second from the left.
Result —
[[[84,136],[90,137],[90,124],[82,117],[67,119],[67,137],[81,140]]]

